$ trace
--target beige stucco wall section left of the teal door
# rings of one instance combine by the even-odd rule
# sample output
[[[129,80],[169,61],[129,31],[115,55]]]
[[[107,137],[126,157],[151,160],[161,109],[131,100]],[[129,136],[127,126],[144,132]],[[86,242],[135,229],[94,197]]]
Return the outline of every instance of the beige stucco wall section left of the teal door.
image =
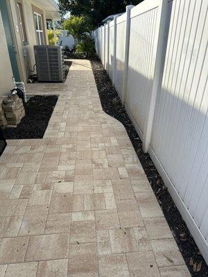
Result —
[[[6,96],[10,89],[12,89],[12,75],[10,57],[8,54],[0,10],[0,96]]]

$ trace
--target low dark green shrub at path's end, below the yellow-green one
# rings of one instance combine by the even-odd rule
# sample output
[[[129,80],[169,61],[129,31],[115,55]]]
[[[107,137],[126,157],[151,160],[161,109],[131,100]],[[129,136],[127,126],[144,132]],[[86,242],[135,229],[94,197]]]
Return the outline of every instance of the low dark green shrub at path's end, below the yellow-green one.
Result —
[[[86,36],[80,43],[76,46],[76,55],[83,57],[93,57],[95,53],[94,50],[94,39]]]

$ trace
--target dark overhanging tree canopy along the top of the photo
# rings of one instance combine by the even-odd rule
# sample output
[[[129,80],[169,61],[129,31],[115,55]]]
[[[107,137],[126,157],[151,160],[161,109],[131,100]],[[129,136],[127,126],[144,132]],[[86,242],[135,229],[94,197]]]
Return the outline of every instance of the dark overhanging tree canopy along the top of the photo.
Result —
[[[109,15],[125,12],[125,6],[137,5],[143,0],[59,0],[62,15],[71,12],[71,15],[85,16],[93,28],[102,23]]]

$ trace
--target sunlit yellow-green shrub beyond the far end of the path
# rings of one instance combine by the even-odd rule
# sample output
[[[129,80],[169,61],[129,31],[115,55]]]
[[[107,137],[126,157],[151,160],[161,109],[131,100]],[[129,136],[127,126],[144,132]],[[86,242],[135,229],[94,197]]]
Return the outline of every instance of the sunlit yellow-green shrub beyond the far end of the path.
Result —
[[[71,15],[71,17],[64,21],[64,29],[67,30],[67,35],[72,35],[75,40],[75,44],[81,41],[85,33],[89,33],[90,26],[87,22],[86,17],[77,17]]]

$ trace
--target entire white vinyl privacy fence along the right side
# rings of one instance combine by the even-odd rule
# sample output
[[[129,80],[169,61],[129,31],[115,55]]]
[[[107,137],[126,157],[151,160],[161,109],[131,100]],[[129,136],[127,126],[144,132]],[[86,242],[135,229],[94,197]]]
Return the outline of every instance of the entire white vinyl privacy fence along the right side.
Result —
[[[208,263],[208,1],[145,0],[96,52]]]

